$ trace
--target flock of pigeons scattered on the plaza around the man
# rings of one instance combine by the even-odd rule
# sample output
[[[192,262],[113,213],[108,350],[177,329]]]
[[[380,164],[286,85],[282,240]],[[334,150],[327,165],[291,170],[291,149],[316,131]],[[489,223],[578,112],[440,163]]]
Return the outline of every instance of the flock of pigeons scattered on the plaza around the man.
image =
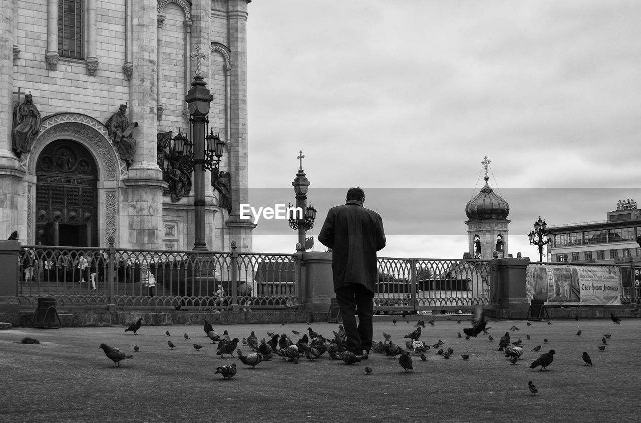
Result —
[[[611,315],[610,318],[615,324],[620,324],[620,319],[615,317],[615,315]],[[578,320],[578,317],[576,317],[576,320]],[[393,322],[395,325],[396,319],[394,319]],[[407,320],[407,322],[409,322],[409,320]],[[456,323],[460,324],[460,320],[458,320],[458,322]],[[484,335],[487,335],[488,340],[492,342],[494,338],[492,338],[492,335],[488,333],[488,329],[490,328],[487,327],[487,323],[488,320],[485,318],[483,308],[481,306],[478,306],[476,308],[474,318],[472,319],[472,327],[463,329],[465,338],[476,338],[476,336],[483,333]],[[137,322],[131,324],[127,329],[125,329],[125,332],[131,331],[134,334],[137,334],[137,331],[140,329],[141,324],[142,319],[138,319]],[[435,319],[428,320],[428,324],[434,326]],[[552,323],[548,320],[547,324],[551,325]],[[527,322],[527,325],[531,326],[531,323]],[[395,344],[392,341],[392,336],[387,335],[387,333],[383,333],[384,340],[381,340],[372,345],[372,353],[385,354],[385,356],[389,358],[398,357],[397,360],[404,372],[413,370],[413,355],[419,356],[421,361],[426,361],[426,352],[429,349],[437,349],[438,351],[436,352],[436,354],[442,356],[442,358],[445,359],[449,359],[453,355],[454,350],[452,348],[448,348],[446,350],[442,348],[444,342],[442,342],[442,340],[440,339],[433,345],[428,345],[420,340],[420,336],[422,335],[422,328],[425,328],[424,320],[419,320],[416,326],[417,327],[415,330],[403,337],[403,339],[408,339],[408,341],[404,343],[404,346]],[[519,328],[517,326],[512,326],[510,330],[514,332],[518,331]],[[247,338],[242,338],[241,341],[238,338],[231,338],[227,330],[225,330],[222,335],[219,335],[213,329],[212,325],[206,320],[204,321],[203,331],[204,333],[206,333],[206,336],[208,336],[208,338],[212,340],[213,344],[217,344],[217,351],[215,353],[216,355],[221,356],[221,358],[224,358],[225,355],[237,357],[237,360],[240,360],[243,365],[247,365],[252,368],[262,363],[263,361],[271,361],[272,358],[275,358],[276,356],[281,357],[283,358],[283,360],[288,362],[298,363],[299,360],[303,358],[305,358],[306,360],[314,361],[324,356],[324,354],[327,354],[329,359],[342,360],[347,365],[358,363],[369,358],[367,354],[363,354],[363,356],[357,356],[356,354],[347,351],[347,349],[345,348],[345,342],[347,338],[345,336],[345,331],[342,325],[338,327],[338,331],[333,331],[333,336],[331,337],[325,337],[323,335],[320,335],[319,333],[316,333],[310,326],[308,328],[308,333],[304,333],[303,336],[301,336],[297,340],[297,342],[294,342],[286,333],[278,334],[269,332],[267,333],[267,338],[258,340],[258,337],[254,334],[254,331],[251,331],[251,335],[247,336]],[[299,332],[295,330],[292,330],[292,333],[295,336],[300,335]],[[166,332],[166,335],[171,336],[169,331]],[[579,330],[576,335],[581,336],[581,330]],[[190,340],[190,337],[187,335],[187,333],[185,333],[183,336],[185,340]],[[463,335],[459,332],[457,336],[459,338],[462,338]],[[603,345],[599,345],[599,351],[605,350],[606,345],[608,345],[607,340],[610,337],[611,335],[603,334],[603,339],[601,341]],[[526,338],[529,340],[530,336],[526,335]],[[242,345],[246,345],[247,347],[249,347],[249,349],[251,349],[251,353],[244,354],[242,349],[240,349],[238,345],[239,343],[242,343]],[[544,343],[547,343],[547,338],[544,339]],[[171,349],[174,349],[176,347],[171,340],[167,340],[167,345]],[[193,345],[194,349],[196,350],[199,350],[203,347],[199,344]],[[117,347],[111,347],[110,345],[101,344],[99,348],[103,349],[104,354],[113,361],[114,367],[120,366],[120,362],[122,360],[133,358],[133,354],[124,353]],[[537,345],[536,347],[531,349],[531,351],[538,352],[541,348],[542,345]],[[138,345],[134,346],[134,350],[138,351]],[[518,360],[521,360],[521,356],[524,352],[524,349],[522,347],[522,340],[518,338],[518,340],[513,341],[512,337],[510,336],[510,331],[506,331],[506,333],[499,339],[498,351],[501,351],[504,356],[508,357],[510,363],[516,364]],[[237,356],[234,356],[234,353],[237,353]],[[549,367],[549,365],[551,365],[554,361],[554,354],[554,349],[550,349],[547,353],[541,354],[529,365],[530,369],[536,369],[537,367],[540,367],[540,370],[547,370],[547,367]],[[470,358],[468,354],[461,354],[461,357],[462,360],[469,360]],[[592,366],[592,359],[587,352],[583,352],[582,358],[585,366]],[[237,370],[238,369],[236,363],[231,363],[229,365],[216,367],[215,374],[221,374],[224,379],[229,379],[235,376]],[[365,374],[371,374],[372,371],[372,367],[365,366]],[[532,381],[528,381],[528,388],[531,392],[531,395],[536,395],[538,393],[538,389],[532,383]]]

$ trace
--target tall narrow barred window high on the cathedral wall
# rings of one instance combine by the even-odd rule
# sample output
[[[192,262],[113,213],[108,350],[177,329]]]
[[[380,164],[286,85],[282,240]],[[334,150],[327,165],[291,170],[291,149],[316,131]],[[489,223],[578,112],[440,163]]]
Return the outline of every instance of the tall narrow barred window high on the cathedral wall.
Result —
[[[59,0],[58,54],[81,59],[82,44],[82,0]]]

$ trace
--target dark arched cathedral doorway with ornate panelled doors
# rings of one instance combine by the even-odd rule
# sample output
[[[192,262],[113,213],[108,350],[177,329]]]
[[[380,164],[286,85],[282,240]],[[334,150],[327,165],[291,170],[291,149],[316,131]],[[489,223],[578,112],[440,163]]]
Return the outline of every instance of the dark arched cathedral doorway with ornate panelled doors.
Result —
[[[51,142],[36,177],[36,244],[97,247],[98,170],[89,151],[72,140]]]

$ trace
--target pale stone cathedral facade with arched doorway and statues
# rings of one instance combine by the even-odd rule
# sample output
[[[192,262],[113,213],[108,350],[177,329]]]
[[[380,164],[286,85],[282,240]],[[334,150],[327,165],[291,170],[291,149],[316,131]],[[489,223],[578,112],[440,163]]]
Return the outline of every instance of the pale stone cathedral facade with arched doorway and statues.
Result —
[[[208,249],[251,251],[249,0],[0,0],[0,236],[22,244],[191,249],[193,142],[185,95],[213,95]],[[6,235],[3,235],[6,234]]]

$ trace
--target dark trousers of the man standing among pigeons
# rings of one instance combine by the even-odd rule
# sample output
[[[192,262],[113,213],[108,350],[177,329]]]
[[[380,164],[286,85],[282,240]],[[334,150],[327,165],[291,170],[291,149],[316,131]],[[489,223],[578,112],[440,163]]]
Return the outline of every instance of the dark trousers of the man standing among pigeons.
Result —
[[[336,290],[336,302],[343,319],[347,350],[356,355],[372,349],[372,316],[374,315],[374,293],[360,283],[350,283]],[[358,313],[358,326],[356,317]]]

